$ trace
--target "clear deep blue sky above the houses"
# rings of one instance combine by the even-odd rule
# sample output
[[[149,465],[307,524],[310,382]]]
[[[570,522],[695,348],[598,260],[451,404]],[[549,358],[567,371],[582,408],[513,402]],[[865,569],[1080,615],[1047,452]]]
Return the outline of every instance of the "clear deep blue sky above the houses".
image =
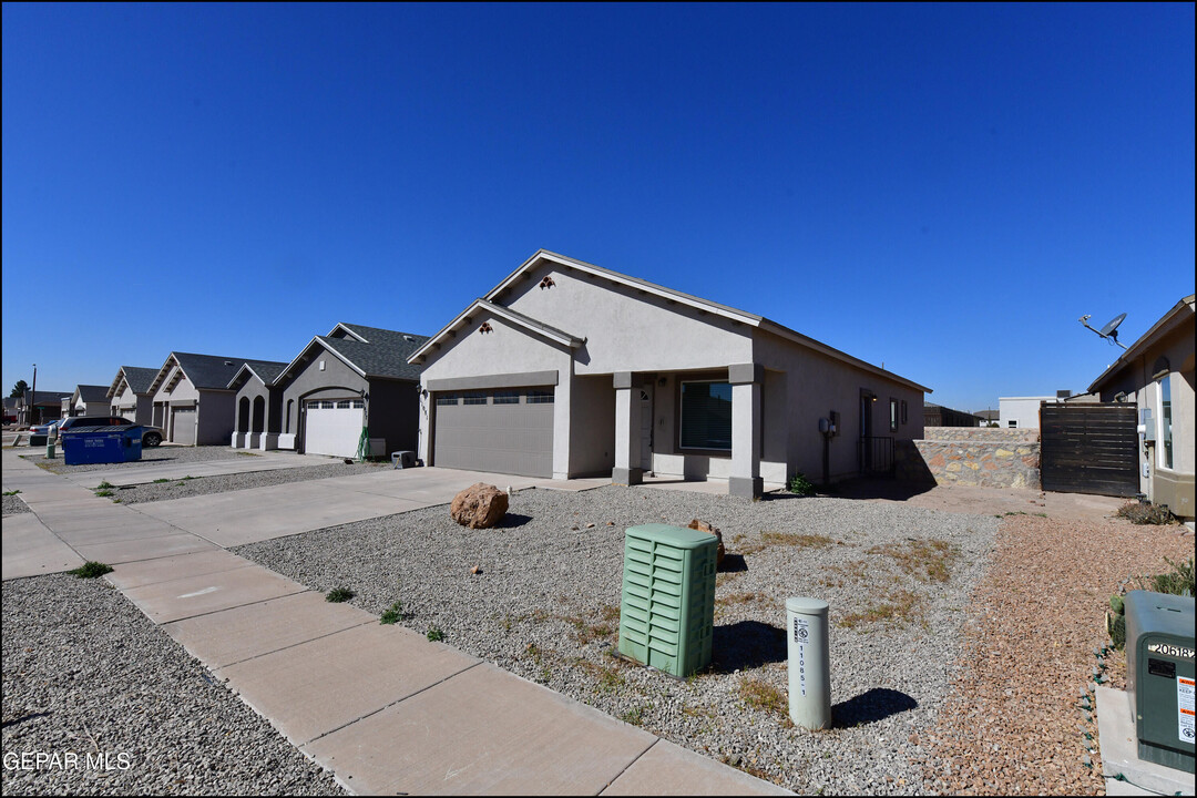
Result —
[[[1193,5],[4,4],[4,392],[432,334],[546,248],[962,410],[1193,291]]]

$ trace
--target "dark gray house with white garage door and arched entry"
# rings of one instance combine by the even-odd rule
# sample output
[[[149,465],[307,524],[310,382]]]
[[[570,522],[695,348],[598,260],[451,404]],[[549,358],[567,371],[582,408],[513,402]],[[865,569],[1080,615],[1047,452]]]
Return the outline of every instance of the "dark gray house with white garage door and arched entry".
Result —
[[[420,367],[407,359],[426,341],[360,324],[312,337],[275,380],[279,449],[352,457],[367,431],[371,453],[415,451]]]

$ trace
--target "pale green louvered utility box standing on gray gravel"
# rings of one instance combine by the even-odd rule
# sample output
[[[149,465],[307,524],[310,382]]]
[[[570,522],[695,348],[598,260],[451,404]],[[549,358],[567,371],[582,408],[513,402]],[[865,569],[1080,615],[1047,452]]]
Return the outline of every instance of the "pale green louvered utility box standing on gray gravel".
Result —
[[[713,535],[666,524],[624,535],[619,651],[683,678],[711,662],[715,628]]]

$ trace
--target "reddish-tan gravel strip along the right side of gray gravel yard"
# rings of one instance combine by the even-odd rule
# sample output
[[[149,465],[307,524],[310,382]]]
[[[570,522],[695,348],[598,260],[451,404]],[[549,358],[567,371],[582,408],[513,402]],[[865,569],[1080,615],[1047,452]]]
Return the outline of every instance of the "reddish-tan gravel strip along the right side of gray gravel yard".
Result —
[[[1083,760],[1083,732],[1096,727],[1078,699],[1106,640],[1107,599],[1129,575],[1166,571],[1165,556],[1191,556],[1193,536],[1104,517],[1101,502],[1118,500],[1057,500],[1068,510],[1052,513],[1053,495],[1002,516],[952,695],[924,745],[926,785],[941,793],[1105,792],[1100,756]],[[1117,683],[1125,660],[1108,660]]]

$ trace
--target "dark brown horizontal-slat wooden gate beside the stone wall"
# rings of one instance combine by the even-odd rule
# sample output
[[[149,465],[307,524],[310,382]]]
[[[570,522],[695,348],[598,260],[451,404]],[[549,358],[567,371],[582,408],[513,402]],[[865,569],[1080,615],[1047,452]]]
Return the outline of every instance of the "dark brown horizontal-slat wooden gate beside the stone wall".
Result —
[[[1134,404],[1039,407],[1044,491],[1132,497],[1138,488]]]

